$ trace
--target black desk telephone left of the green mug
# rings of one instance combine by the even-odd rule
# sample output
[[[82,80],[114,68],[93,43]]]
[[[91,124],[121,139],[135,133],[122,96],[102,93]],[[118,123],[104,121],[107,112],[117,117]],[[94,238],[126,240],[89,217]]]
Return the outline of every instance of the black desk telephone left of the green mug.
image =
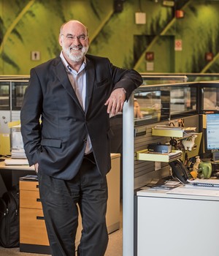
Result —
[[[178,178],[183,184],[188,183],[188,170],[180,159],[169,162],[172,167],[172,176]]]

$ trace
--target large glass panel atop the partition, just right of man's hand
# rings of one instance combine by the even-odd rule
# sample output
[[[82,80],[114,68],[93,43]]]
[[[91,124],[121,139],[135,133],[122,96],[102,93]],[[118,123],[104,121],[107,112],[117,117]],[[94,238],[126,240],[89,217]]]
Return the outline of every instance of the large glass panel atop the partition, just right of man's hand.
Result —
[[[134,91],[134,125],[196,113],[198,88],[196,83],[140,86]]]

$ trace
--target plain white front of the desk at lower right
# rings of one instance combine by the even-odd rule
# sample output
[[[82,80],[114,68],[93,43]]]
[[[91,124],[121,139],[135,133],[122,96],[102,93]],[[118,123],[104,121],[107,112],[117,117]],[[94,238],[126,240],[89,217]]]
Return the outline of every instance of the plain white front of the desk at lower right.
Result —
[[[218,216],[219,196],[140,190],[137,256],[218,256]]]

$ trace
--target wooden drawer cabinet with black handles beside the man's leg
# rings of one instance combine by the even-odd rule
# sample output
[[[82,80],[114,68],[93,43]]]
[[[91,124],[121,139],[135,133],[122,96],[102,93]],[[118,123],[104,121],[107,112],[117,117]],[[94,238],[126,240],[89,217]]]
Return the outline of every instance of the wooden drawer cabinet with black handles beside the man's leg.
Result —
[[[38,181],[19,181],[20,252],[50,254],[47,230],[39,198]]]

